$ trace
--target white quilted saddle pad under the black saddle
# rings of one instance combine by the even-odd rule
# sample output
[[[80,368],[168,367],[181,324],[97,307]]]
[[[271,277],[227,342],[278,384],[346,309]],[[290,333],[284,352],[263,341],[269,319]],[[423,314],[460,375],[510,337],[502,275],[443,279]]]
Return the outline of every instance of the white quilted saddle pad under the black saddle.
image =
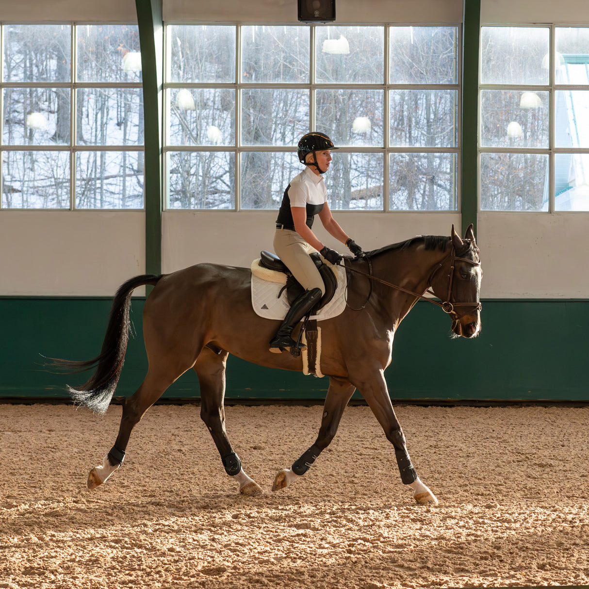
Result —
[[[254,311],[264,319],[284,319],[290,305],[286,300],[286,289],[280,294],[280,289],[286,284],[286,274],[261,268],[260,260],[252,263],[252,306]],[[332,266],[337,279],[337,289],[332,300],[319,310],[311,319],[317,321],[336,317],[346,308],[346,271],[341,266]]]

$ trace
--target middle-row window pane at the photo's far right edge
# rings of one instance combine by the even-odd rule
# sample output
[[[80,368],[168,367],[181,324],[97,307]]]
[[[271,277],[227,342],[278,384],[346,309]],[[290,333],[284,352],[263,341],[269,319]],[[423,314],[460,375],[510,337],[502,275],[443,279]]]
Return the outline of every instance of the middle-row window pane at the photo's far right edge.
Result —
[[[589,147],[589,90],[555,92],[557,147]]]

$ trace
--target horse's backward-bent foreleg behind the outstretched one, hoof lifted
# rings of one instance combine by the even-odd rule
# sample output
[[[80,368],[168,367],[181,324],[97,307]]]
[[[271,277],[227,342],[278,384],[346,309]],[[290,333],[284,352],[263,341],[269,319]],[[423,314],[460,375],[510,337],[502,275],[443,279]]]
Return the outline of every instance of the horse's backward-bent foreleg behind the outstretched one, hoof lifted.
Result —
[[[343,410],[348,405],[348,401],[355,390],[355,386],[350,385],[347,380],[336,379],[333,376],[330,377],[329,389],[327,389],[325,404],[323,405],[323,417],[321,419],[319,435],[317,435],[315,444],[303,452],[303,455],[294,461],[290,468],[285,468],[276,475],[274,484],[272,485],[272,491],[278,491],[278,489],[288,487],[297,478],[304,475],[309,470],[309,466],[315,462],[317,456],[329,446],[337,432],[337,426],[342,419]]]

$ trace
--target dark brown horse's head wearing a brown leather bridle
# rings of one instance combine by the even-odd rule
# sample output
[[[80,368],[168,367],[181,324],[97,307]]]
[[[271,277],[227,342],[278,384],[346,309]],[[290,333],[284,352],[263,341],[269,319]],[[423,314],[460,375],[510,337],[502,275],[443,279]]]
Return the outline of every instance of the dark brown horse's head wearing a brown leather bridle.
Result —
[[[432,290],[442,300],[442,308],[452,317],[455,337],[476,337],[481,331],[481,260],[472,224],[464,240],[452,225],[452,252],[436,272]]]

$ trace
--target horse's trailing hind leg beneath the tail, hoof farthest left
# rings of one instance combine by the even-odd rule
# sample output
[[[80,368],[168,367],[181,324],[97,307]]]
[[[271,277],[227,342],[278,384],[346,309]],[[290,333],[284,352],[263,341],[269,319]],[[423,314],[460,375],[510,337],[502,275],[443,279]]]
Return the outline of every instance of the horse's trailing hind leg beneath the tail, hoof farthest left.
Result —
[[[89,489],[95,489],[101,485],[123,464],[125,450],[134,426],[141,421],[145,411],[163,395],[175,378],[171,375],[158,375],[154,369],[150,369],[137,391],[125,399],[117,439],[110,452],[104,456],[102,465],[95,466],[90,471],[88,475]]]

